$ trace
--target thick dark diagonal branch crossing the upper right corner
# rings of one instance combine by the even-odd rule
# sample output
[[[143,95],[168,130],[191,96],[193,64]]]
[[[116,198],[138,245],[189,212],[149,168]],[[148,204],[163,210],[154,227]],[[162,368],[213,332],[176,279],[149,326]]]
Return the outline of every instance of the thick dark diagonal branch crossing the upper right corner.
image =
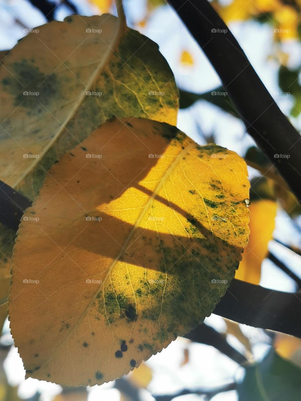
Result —
[[[246,125],[301,200],[301,140],[266,90],[228,26],[207,0],[169,0],[214,69]],[[274,155],[285,155],[275,158]]]

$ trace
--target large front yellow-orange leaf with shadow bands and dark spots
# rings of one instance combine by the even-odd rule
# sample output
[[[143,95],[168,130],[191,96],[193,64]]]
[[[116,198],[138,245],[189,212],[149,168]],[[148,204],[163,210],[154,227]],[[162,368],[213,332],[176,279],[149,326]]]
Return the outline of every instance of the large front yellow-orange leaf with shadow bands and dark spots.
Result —
[[[236,153],[147,119],[113,119],[62,156],[14,248],[26,377],[102,384],[202,322],[246,245],[248,189]]]

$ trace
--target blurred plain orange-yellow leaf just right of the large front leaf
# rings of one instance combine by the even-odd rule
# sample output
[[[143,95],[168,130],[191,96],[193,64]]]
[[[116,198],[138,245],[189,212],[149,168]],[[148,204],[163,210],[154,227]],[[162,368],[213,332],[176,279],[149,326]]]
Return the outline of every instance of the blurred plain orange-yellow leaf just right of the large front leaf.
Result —
[[[250,235],[248,245],[242,254],[242,261],[235,278],[252,284],[259,284],[261,263],[268,252],[268,242],[273,237],[277,203],[270,199],[251,202]]]

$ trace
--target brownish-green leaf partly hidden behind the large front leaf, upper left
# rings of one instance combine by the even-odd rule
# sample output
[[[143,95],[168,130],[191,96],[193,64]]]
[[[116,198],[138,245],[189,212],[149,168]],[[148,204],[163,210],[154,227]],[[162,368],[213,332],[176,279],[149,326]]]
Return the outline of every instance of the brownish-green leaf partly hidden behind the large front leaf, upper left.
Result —
[[[178,91],[158,46],[112,15],[39,26],[1,59],[0,179],[32,200],[55,160],[113,115],[176,123]],[[8,236],[0,226],[6,273]]]

